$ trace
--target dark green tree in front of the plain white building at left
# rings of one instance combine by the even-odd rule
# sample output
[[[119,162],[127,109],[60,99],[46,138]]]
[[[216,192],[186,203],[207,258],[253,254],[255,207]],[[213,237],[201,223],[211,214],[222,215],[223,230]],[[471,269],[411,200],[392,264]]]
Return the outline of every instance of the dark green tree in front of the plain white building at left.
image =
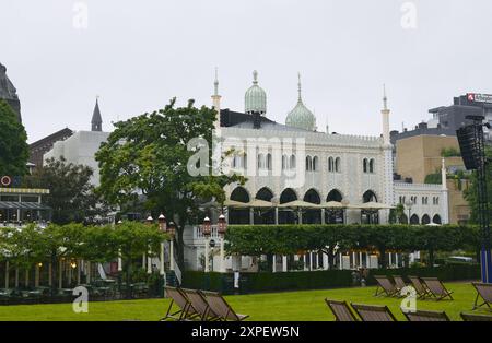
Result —
[[[49,189],[44,201],[52,209],[54,223],[82,223],[92,221],[106,210],[94,192],[92,175],[93,170],[87,166],[67,163],[63,157],[50,158],[43,167],[36,168],[33,175],[27,176],[24,185]]]

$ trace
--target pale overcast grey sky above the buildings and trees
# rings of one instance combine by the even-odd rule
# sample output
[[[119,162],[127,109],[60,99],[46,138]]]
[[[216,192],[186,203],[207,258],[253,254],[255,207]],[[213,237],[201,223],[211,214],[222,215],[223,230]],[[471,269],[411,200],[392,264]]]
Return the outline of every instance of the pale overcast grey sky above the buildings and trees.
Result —
[[[85,3],[87,27],[73,5]],[[402,4],[417,8],[417,28]],[[0,62],[17,88],[33,142],[90,129],[101,96],[110,121],[171,97],[211,105],[219,67],[223,108],[244,109],[257,69],[268,114],[284,122],[304,102],[319,130],[379,134],[382,84],[391,129],[467,92],[492,92],[490,0],[0,0]],[[405,16],[405,23],[401,24]],[[79,16],[77,16],[79,19]],[[83,21],[77,21],[82,23]]]

